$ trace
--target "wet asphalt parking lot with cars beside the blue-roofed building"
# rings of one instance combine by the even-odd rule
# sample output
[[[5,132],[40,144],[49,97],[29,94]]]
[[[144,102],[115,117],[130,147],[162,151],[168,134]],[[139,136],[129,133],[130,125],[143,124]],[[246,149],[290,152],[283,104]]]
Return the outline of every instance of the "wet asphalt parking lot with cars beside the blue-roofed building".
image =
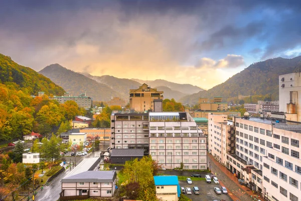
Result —
[[[187,181],[179,181],[179,184],[181,187],[190,187],[191,190],[193,186],[198,186],[200,189],[200,194],[194,194],[192,190],[192,194],[186,194],[185,195],[189,198],[191,198],[193,201],[197,200],[221,200],[224,199],[226,201],[231,201],[232,199],[228,194],[216,194],[214,191],[214,187],[219,187],[221,189],[220,184],[215,184],[213,181],[211,183],[207,183],[204,180],[201,181],[192,181],[192,184],[188,184]]]

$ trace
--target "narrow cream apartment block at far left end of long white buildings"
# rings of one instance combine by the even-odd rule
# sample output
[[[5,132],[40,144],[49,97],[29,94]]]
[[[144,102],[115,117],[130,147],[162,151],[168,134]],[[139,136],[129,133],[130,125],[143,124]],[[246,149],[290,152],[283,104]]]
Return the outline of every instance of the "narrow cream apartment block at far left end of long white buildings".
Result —
[[[209,115],[208,150],[220,163],[226,165],[227,153],[234,154],[234,127],[227,115]]]

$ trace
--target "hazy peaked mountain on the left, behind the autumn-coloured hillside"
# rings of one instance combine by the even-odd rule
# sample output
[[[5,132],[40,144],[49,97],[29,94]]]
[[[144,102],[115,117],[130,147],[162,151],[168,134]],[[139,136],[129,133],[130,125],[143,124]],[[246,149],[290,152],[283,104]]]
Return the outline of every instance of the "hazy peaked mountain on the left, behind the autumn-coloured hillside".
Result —
[[[51,64],[43,68],[39,73],[50,78],[56,84],[62,86],[71,95],[78,95],[86,90],[87,96],[93,100],[107,101],[113,97],[121,96],[105,84],[99,83],[80,73],[74,72],[59,64]],[[121,96],[122,97],[122,96]]]

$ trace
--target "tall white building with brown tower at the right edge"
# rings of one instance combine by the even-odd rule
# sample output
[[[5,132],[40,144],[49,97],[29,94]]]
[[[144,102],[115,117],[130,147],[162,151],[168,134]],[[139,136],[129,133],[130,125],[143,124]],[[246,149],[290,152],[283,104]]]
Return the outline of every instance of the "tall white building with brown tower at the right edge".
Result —
[[[286,120],[301,122],[301,76],[300,72],[279,75],[279,112]]]

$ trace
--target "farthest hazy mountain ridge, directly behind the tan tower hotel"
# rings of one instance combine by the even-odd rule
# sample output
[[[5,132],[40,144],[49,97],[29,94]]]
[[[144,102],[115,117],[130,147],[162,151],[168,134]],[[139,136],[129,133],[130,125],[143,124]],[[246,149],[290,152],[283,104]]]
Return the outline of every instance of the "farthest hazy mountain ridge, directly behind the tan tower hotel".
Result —
[[[180,91],[180,92],[186,93],[186,94],[197,93],[199,91],[204,90],[198,86],[194,86],[191,84],[179,84],[179,83],[175,83],[175,82],[166,81],[164,79],[156,79],[154,81],[145,81],[145,80],[141,80],[141,79],[132,79],[132,80],[137,81],[141,84],[147,82],[147,84],[152,88],[156,88],[158,86],[167,86],[172,90]]]

